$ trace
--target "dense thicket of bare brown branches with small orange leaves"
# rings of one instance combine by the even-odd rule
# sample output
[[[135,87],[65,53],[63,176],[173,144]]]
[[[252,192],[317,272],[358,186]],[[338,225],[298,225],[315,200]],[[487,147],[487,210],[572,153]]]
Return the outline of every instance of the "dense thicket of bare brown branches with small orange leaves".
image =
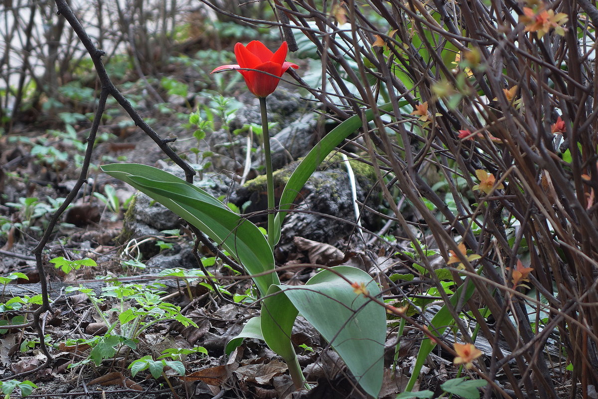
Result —
[[[377,111],[358,142],[398,235],[423,243],[413,257],[403,252],[404,263],[432,270],[426,247],[449,259],[449,251],[462,254],[460,242],[482,256],[478,275],[477,264],[458,255],[465,279],[457,269],[454,278],[474,284],[477,295],[451,313],[453,332],[471,342],[457,316],[468,307],[492,343],[483,373],[507,376],[518,398],[585,397],[598,383],[596,7],[585,0],[274,6],[290,21],[277,25],[286,39],[298,38],[300,53],[316,51],[324,63],[310,93],[340,119]],[[392,111],[380,111],[388,102]],[[472,197],[476,174],[500,189]],[[528,268],[524,293],[514,273]],[[389,284],[388,294],[404,294]],[[545,351],[553,339],[563,348],[559,358]]]

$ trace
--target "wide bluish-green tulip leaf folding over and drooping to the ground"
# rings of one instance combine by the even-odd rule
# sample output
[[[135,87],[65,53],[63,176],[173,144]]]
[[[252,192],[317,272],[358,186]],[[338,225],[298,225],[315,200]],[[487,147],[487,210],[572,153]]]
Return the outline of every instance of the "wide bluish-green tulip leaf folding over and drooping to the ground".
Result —
[[[274,345],[286,354],[292,322],[297,311],[300,312],[343,358],[364,391],[377,397],[382,388],[386,312],[380,304],[356,294],[347,281],[366,284],[374,297],[380,294],[380,288],[371,276],[356,267],[337,266],[322,270],[306,285],[277,286],[296,310],[291,309],[280,294],[264,299],[262,332],[270,348]],[[276,293],[277,290],[271,288],[268,292]],[[273,332],[274,328],[279,331]],[[281,342],[273,342],[276,338]]]

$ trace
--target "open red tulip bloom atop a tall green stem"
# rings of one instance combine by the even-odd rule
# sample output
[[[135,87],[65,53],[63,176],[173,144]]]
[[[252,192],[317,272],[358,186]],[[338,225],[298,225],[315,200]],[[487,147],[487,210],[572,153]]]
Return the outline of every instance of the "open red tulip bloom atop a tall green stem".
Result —
[[[258,97],[266,97],[276,90],[282,74],[289,68],[299,68],[292,62],[285,61],[288,47],[283,41],[276,53],[270,51],[261,41],[254,40],[247,47],[237,43],[234,55],[239,65],[222,65],[214,72],[237,69],[250,92]],[[251,69],[251,70],[250,70]]]

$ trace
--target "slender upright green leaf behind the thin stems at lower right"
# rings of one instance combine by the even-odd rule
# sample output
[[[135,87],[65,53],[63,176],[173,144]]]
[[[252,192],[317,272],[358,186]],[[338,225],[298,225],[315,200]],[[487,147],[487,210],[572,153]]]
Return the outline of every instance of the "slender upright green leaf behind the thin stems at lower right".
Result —
[[[465,287],[465,293],[463,293],[463,287]],[[465,296],[464,301],[469,300],[469,298],[471,298],[471,296],[474,294],[474,290],[475,285],[471,281],[466,280],[464,284],[457,288],[457,292],[450,297],[450,306],[456,306],[457,301],[459,301],[459,298],[463,294]],[[434,315],[428,328],[430,331],[432,331],[432,333],[440,336],[444,333],[447,327],[453,325],[453,323],[454,319],[449,312],[449,307],[444,305],[440,310],[438,310],[438,313]],[[422,341],[422,345],[419,347],[419,352],[417,352],[415,366],[413,367],[413,371],[405,391],[411,391],[411,389],[413,389],[413,386],[419,378],[419,373],[422,370],[423,363],[426,361],[426,358],[430,352],[432,352],[432,349],[434,349],[434,346],[436,346],[436,344],[432,342],[431,339],[426,338]]]

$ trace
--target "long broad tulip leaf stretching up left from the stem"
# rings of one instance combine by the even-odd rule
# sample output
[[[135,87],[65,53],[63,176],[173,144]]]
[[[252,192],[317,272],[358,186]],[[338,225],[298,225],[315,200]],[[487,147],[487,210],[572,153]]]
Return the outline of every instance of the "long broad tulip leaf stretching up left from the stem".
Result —
[[[250,274],[274,270],[274,255],[260,230],[201,188],[147,165],[119,163],[104,165],[102,170],[157,200],[222,244]],[[254,281],[262,294],[270,285],[279,283],[276,273],[256,277]]]

